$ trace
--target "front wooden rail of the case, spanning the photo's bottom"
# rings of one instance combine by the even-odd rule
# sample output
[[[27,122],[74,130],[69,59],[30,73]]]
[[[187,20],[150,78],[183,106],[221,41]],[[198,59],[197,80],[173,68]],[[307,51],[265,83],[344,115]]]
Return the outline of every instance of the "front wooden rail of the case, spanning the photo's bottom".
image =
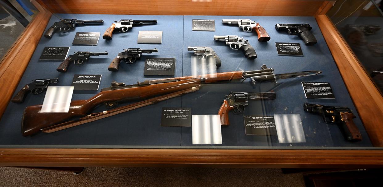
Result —
[[[0,149],[0,166],[283,167],[383,166],[383,150]]]

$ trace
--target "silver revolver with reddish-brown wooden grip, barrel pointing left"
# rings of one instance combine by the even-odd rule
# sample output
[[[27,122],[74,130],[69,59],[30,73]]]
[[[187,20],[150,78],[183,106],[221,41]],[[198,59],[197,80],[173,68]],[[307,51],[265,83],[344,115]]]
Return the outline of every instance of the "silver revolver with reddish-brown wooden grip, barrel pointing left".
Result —
[[[251,20],[222,20],[222,23],[226,24],[238,24],[238,27],[241,28],[245,32],[255,32],[258,35],[259,42],[267,42],[270,40],[270,36],[268,36],[266,30],[259,25],[259,23]]]

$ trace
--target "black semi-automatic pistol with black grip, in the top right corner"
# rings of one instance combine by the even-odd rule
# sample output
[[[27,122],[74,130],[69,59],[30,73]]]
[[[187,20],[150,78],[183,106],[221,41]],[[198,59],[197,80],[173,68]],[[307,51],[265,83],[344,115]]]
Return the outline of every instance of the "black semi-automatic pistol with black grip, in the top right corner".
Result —
[[[313,29],[309,24],[285,24],[277,23],[277,31],[286,31],[290,35],[298,35],[306,46],[312,46],[317,43],[315,36],[310,32]]]

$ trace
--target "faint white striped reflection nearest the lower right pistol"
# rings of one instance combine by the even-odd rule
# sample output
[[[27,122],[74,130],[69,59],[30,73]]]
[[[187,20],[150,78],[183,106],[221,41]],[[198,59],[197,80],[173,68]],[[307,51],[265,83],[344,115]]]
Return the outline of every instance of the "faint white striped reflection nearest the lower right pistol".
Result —
[[[274,114],[279,143],[306,142],[299,114]]]

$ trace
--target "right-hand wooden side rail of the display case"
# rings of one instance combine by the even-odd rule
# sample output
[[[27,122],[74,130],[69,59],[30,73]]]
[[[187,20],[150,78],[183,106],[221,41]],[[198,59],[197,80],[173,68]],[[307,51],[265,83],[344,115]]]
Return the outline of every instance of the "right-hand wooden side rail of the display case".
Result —
[[[383,97],[326,15],[316,15],[327,46],[374,146],[383,146]]]

